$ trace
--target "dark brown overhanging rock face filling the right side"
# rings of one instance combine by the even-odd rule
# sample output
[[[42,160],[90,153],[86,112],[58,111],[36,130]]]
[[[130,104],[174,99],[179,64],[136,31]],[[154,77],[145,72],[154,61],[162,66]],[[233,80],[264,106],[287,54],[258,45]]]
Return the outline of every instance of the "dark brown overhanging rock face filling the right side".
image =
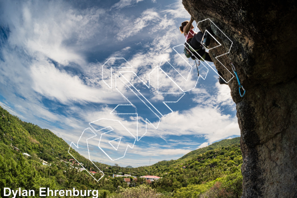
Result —
[[[196,22],[209,18],[233,42],[227,55],[247,90],[241,98],[237,80],[229,83],[241,130],[242,198],[297,198],[296,1],[183,0],[183,4]],[[231,74],[215,56],[226,53],[230,41],[206,21],[198,24],[202,32],[209,26],[223,44],[209,54],[228,79]],[[223,55],[219,60],[232,71],[229,58]]]

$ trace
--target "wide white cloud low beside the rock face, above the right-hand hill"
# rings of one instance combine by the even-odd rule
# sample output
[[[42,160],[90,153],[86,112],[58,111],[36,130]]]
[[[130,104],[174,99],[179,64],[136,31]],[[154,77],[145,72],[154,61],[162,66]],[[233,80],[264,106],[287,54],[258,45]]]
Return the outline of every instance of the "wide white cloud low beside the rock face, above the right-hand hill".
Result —
[[[174,125],[172,124],[174,123]],[[218,108],[196,106],[162,117],[159,128],[147,136],[203,135],[209,143],[239,135],[236,117],[224,115]]]

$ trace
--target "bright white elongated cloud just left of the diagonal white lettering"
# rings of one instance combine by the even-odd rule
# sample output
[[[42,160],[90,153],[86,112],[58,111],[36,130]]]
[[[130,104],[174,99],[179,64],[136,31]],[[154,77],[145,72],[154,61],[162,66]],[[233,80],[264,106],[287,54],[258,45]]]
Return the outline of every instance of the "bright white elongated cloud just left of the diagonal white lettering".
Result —
[[[31,66],[32,88],[43,96],[57,99],[62,103],[69,100],[79,102],[118,103],[118,93],[110,89],[97,89],[86,86],[78,76],[60,71],[47,61]],[[115,100],[114,100],[115,99]]]

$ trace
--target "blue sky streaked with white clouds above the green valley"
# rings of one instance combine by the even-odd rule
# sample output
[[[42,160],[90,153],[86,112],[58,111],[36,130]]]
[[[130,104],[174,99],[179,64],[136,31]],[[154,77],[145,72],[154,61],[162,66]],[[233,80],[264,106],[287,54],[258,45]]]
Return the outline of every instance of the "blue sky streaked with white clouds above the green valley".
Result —
[[[105,118],[98,125],[114,129],[107,139],[122,137],[117,151],[107,139],[100,143],[112,159],[136,139],[125,157],[112,161],[96,146],[108,128],[97,131],[88,142],[92,160],[137,167],[240,135],[229,87],[206,64],[198,78],[183,47],[173,49],[185,42],[179,26],[190,19],[181,0],[9,0],[0,9],[0,105],[68,144]],[[110,68],[119,66],[132,67],[113,68],[111,79]],[[173,112],[163,103],[177,100],[166,103]],[[118,104],[130,105],[110,114]],[[83,146],[79,151],[88,155]]]

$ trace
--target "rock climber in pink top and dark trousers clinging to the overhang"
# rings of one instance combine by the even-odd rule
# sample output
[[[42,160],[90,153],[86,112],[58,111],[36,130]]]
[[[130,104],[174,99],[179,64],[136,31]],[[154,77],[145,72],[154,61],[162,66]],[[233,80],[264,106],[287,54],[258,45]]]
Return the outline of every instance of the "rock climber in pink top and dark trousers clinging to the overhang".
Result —
[[[194,18],[191,16],[190,21],[184,21],[182,22],[182,26],[180,26],[180,31],[181,33],[185,35],[186,40],[187,40],[187,44],[191,47],[189,47],[189,49],[192,51],[192,53],[194,53],[194,51],[196,51],[196,53],[198,53],[201,57],[198,58],[201,61],[209,61],[209,62],[213,62],[211,60],[211,57],[209,56],[208,52],[205,51],[205,49],[202,47],[201,45],[201,40],[203,38],[203,33],[201,31],[199,31],[198,33],[194,32],[194,26],[192,25],[194,21]],[[213,32],[211,30],[211,28],[209,27],[207,29],[207,31],[210,32],[210,34],[213,35]],[[205,46],[208,46],[210,43],[210,35],[206,32],[204,39],[203,39],[203,44]],[[188,49],[184,49],[184,53],[187,56],[187,58],[192,58],[195,59],[195,56],[192,55],[192,53],[188,50]],[[203,60],[204,59],[204,60]],[[221,74],[221,72],[218,71],[218,74],[220,75],[219,77],[219,83],[220,84],[227,84],[222,78],[221,76],[223,76]]]

